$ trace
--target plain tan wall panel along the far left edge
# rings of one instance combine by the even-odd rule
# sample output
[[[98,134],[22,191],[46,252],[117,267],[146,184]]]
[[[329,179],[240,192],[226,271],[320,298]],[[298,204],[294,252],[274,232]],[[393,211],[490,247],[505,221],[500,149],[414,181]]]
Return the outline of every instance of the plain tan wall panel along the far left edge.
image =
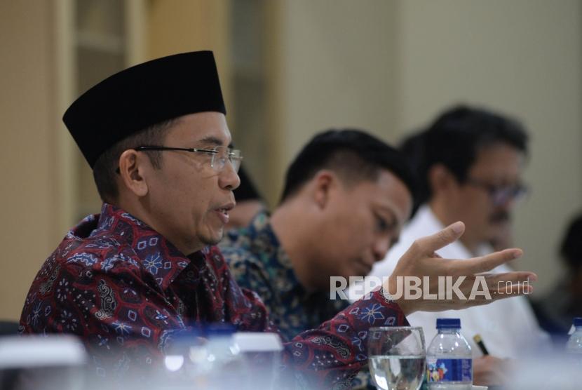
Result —
[[[48,1],[0,1],[0,318],[26,293],[62,231],[55,165],[53,25]]]

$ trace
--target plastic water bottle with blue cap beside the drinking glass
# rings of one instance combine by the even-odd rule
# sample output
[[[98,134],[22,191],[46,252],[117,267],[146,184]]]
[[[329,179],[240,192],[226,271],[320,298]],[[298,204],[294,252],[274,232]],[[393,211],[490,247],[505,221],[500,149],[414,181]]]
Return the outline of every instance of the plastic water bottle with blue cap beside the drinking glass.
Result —
[[[431,390],[471,390],[473,355],[461,335],[459,318],[438,318],[438,334],[426,351],[426,382]]]

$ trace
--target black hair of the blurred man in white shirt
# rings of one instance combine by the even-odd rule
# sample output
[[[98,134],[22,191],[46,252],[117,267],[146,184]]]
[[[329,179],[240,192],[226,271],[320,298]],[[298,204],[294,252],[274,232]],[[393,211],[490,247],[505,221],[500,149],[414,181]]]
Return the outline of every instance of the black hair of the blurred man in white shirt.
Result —
[[[463,183],[480,150],[504,143],[527,156],[528,138],[515,119],[480,107],[458,105],[440,114],[428,129],[407,137],[400,150],[409,156],[420,177],[417,202],[421,204],[431,199],[428,172],[435,164],[445,166]]]

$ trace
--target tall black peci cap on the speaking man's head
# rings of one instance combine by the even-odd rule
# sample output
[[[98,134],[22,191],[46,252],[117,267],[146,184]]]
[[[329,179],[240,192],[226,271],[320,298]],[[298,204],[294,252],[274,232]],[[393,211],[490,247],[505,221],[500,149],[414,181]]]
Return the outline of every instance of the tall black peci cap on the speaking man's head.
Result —
[[[75,100],[62,120],[93,168],[123,138],[196,112],[226,114],[211,51],[170,55],[109,76]]]

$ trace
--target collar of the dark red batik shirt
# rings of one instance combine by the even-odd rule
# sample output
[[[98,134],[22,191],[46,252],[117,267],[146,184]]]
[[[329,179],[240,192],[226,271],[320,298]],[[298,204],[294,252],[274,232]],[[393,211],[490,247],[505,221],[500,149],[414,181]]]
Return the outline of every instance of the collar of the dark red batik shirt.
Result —
[[[86,217],[70,233],[81,237],[107,236],[122,246],[129,246],[142,269],[153,276],[161,290],[166,290],[190,262],[201,263],[208,255],[208,248],[184,255],[137,217],[109,203],[103,203],[100,215]]]

